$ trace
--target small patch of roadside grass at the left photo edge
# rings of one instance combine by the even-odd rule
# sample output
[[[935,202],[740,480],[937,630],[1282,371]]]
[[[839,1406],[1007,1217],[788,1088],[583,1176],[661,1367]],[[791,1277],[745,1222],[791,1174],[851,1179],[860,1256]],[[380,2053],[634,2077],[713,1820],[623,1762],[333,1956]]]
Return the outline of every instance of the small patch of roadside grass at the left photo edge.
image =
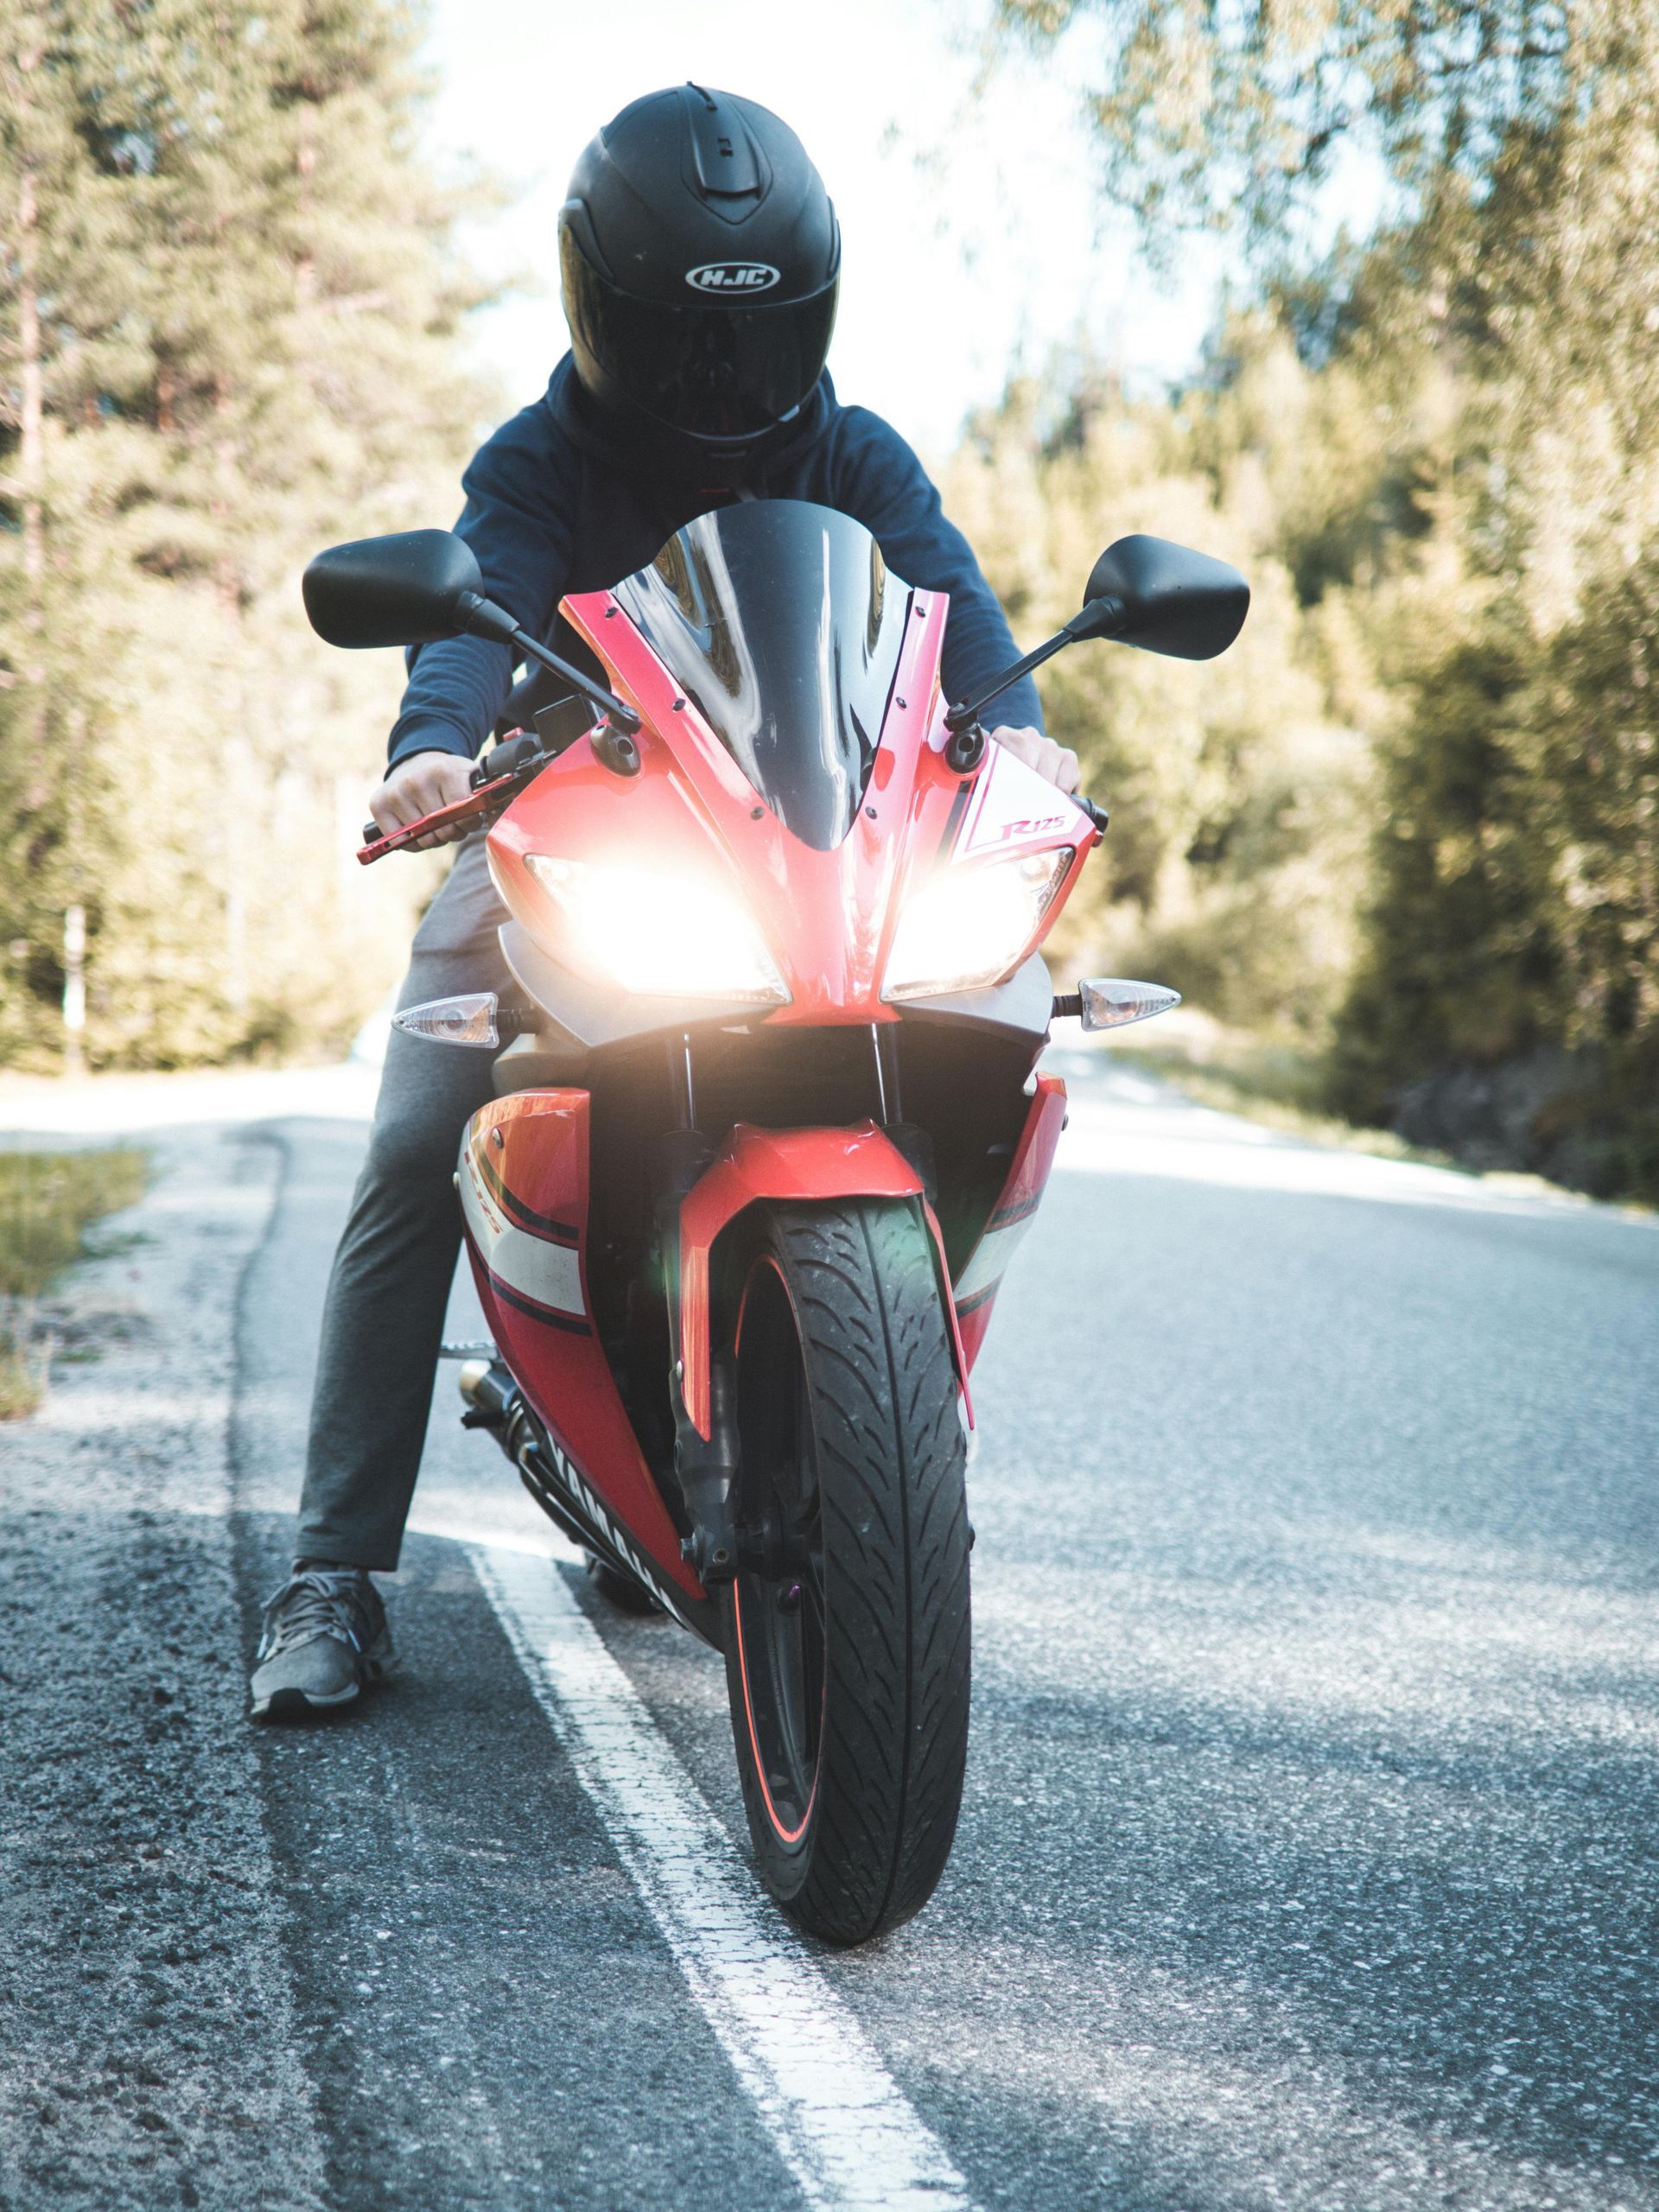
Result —
[[[35,1303],[91,1250],[86,1232],[144,1197],[148,1152],[0,1152],[0,1420],[33,1413],[46,1394],[51,1343],[35,1338]]]

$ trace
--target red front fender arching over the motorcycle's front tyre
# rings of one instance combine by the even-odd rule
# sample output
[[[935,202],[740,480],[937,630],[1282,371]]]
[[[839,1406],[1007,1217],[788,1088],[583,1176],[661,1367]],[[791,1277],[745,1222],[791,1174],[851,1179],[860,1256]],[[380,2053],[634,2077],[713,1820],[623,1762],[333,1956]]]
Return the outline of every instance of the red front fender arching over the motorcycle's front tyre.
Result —
[[[679,1391],[699,1436],[710,1433],[710,1254],[721,1230],[757,1199],[916,1199],[933,1241],[933,1270],[967,1398],[967,1360],[945,1265],[945,1241],[922,1179],[874,1121],[852,1128],[752,1128],[739,1121],[721,1157],[679,1208]]]

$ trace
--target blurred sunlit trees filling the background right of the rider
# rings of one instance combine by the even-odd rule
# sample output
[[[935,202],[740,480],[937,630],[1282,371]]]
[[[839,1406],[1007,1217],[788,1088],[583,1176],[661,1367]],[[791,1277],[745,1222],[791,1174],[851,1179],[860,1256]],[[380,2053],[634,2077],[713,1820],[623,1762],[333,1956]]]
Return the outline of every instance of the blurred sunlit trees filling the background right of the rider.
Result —
[[[1033,619],[1088,515],[1256,586],[1199,728],[1126,655],[1051,686],[1119,801],[1099,949],[1296,1037],[1345,1115],[1659,1194],[1659,9],[998,24],[1091,73],[1104,192],[1157,250],[1232,228],[1252,270],[1168,407],[1062,374],[958,462]],[[1310,263],[1352,142],[1389,215]]]

